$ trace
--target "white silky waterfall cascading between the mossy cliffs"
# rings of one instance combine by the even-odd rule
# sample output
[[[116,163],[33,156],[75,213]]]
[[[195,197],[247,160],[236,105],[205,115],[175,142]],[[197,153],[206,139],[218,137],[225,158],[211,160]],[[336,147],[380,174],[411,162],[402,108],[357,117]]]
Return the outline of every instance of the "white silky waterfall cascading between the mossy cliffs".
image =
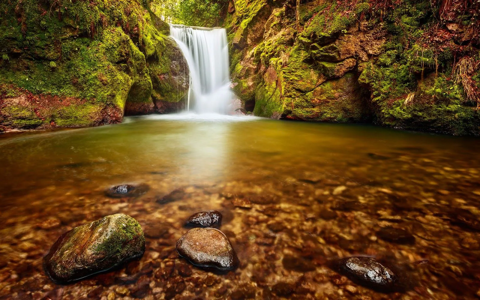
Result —
[[[232,99],[227,32],[223,28],[170,25],[190,69],[187,110],[226,114]]]

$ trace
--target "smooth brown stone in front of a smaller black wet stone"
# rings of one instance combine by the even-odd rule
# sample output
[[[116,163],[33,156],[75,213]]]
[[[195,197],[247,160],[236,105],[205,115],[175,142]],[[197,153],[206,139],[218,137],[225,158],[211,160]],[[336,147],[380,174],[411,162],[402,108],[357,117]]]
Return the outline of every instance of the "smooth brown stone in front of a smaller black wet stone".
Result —
[[[215,228],[193,228],[177,241],[177,251],[192,264],[232,270],[239,264],[227,236]]]

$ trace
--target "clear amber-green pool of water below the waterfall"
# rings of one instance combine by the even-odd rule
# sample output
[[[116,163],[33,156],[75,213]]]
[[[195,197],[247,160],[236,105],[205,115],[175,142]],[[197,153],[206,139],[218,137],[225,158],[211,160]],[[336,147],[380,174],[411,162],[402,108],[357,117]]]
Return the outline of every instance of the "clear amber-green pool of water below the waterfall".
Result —
[[[220,115],[4,134],[0,297],[476,299],[479,150],[476,138]],[[150,191],[105,196],[126,183]],[[177,188],[184,188],[181,199],[156,202]],[[186,218],[210,209],[223,214],[220,229],[240,258],[234,272],[193,267],[175,251]],[[42,257],[53,242],[115,213],[142,225],[144,257],[72,285],[52,283]],[[407,229],[415,242],[379,238],[385,227]],[[409,288],[382,294],[328,265],[356,254],[395,264]],[[279,283],[295,288],[279,296]]]

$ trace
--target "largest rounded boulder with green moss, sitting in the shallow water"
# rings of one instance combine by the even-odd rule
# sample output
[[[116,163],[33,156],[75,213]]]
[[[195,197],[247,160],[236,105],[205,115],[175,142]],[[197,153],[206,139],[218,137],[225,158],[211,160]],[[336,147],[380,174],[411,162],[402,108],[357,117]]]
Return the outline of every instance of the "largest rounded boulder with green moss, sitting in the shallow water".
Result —
[[[65,232],[44,257],[48,276],[69,283],[142,256],[145,238],[131,216],[116,214]]]

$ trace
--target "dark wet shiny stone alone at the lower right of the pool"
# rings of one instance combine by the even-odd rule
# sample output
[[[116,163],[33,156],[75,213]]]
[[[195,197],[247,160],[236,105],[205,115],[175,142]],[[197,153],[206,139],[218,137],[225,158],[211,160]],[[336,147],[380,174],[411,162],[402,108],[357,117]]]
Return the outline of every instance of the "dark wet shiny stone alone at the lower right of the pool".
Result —
[[[374,289],[391,290],[396,282],[392,270],[371,257],[343,259],[339,262],[339,268],[352,281]]]

